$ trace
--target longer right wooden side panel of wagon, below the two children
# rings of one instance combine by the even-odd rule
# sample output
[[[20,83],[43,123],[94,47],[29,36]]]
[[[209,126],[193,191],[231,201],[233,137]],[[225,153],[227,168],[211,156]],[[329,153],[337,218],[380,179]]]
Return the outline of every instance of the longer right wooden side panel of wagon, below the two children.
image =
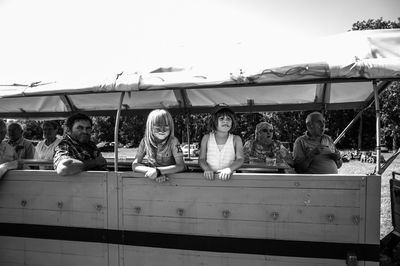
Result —
[[[360,176],[253,174],[228,182],[210,182],[197,173],[176,177],[164,184],[123,178],[123,228],[344,243],[364,239],[354,223],[354,217],[364,220]]]

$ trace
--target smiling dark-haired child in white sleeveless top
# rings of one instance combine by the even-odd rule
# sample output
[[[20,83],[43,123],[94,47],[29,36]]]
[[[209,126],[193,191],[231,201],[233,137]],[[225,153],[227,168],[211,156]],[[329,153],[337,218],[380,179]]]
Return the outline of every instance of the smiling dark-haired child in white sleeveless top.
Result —
[[[223,107],[214,112],[210,119],[210,133],[201,140],[199,165],[208,180],[229,180],[232,173],[243,164],[242,139],[233,135],[237,121],[235,113]]]

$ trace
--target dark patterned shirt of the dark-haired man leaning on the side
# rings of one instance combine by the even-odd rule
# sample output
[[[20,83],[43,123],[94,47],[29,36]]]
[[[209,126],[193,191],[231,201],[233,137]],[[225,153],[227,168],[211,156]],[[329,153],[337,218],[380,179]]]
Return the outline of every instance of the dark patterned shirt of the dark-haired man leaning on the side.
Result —
[[[76,159],[83,162],[87,160],[94,160],[99,156],[103,157],[93,141],[89,141],[88,143],[80,143],[79,141],[73,139],[70,135],[66,134],[55,149],[53,159],[54,169],[57,169],[57,165],[63,159]],[[97,165],[95,168],[88,170],[107,171],[107,165]]]

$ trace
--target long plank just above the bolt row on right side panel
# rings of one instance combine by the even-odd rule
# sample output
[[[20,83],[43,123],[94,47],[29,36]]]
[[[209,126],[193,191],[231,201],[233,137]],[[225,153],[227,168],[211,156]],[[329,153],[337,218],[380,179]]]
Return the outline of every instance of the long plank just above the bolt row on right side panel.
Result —
[[[276,189],[235,187],[179,187],[124,184],[124,200],[164,200],[190,203],[259,203],[307,206],[358,207],[359,191],[322,189]]]

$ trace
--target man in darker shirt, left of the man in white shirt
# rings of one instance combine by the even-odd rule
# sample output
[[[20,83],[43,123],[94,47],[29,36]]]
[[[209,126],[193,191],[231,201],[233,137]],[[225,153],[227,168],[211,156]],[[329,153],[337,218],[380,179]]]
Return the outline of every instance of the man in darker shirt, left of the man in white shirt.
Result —
[[[35,146],[32,142],[22,136],[22,127],[18,123],[8,125],[8,144],[10,144],[17,153],[18,160],[33,159],[35,157]]]

